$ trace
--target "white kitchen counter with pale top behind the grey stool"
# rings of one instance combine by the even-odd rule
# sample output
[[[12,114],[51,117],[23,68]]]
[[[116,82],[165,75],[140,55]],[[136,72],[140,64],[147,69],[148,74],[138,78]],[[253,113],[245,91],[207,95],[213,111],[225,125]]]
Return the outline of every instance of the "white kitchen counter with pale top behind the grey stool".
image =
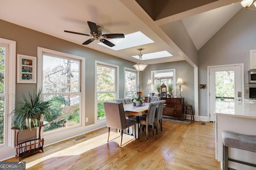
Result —
[[[216,102],[215,120],[216,159],[222,162],[222,131],[256,135],[256,104],[224,101]],[[232,158],[256,164],[256,152],[234,148],[229,150],[229,154],[232,154]],[[230,162],[230,166],[234,169],[246,169],[244,165],[235,162]]]

